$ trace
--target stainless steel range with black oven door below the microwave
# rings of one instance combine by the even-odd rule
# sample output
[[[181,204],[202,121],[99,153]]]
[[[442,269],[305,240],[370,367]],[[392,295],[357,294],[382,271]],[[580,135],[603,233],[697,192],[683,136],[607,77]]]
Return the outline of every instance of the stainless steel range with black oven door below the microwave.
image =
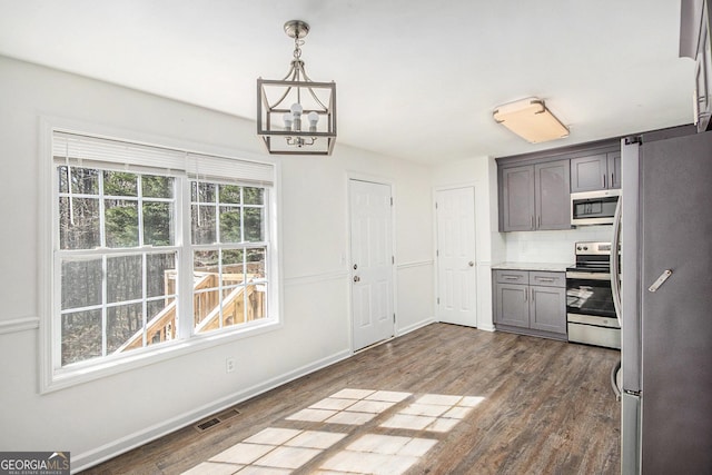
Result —
[[[576,243],[576,265],[566,269],[568,342],[621,348],[611,289],[611,243]]]

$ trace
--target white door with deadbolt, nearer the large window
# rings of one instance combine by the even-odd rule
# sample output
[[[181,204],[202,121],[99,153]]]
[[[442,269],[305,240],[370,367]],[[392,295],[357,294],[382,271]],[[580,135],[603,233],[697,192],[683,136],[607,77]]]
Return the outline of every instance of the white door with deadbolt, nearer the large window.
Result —
[[[352,318],[354,349],[394,335],[390,186],[352,179]]]

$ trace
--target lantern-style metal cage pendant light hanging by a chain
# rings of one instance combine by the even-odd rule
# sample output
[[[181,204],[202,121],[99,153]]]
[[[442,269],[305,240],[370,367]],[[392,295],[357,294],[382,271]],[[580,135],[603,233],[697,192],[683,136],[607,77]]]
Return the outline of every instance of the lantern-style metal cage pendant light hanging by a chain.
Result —
[[[336,85],[315,82],[304,70],[303,38],[309,26],[285,23],[294,59],[280,80],[257,79],[257,135],[269,154],[332,155],[336,141]]]

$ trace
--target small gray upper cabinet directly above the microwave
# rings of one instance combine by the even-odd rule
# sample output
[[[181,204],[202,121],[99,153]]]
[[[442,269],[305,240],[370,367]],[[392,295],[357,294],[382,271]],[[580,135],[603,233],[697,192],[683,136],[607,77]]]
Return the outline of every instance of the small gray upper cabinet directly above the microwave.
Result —
[[[571,192],[621,188],[621,152],[571,159]]]

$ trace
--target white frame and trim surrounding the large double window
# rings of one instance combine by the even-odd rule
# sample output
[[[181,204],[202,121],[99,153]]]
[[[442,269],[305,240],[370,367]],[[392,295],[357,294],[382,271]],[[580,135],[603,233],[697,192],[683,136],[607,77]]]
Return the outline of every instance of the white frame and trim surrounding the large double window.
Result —
[[[59,180],[57,179],[57,162],[53,157],[53,140],[56,132],[87,136],[97,139],[119,140],[137,146],[158,147],[171,149],[185,154],[195,155],[197,159],[192,164],[198,164],[200,159],[214,160],[217,165],[226,167],[268,167],[270,181],[257,182],[250,180],[236,180],[234,177],[221,178],[230,185],[243,187],[264,188],[264,241],[260,244],[266,250],[265,273],[267,276],[268,294],[266,303],[266,316],[254,321],[246,321],[240,325],[228,326],[218,330],[195,333],[192,325],[192,305],[188,305],[192,299],[192,278],[180,278],[184,273],[192,273],[192,243],[190,240],[190,181],[196,177],[198,180],[210,181],[211,177],[200,177],[199,169],[190,169],[190,160],[185,160],[184,169],[171,169],[167,176],[175,176],[175,229],[174,245],[156,247],[158,251],[176,251],[176,269],[179,275],[178,283],[178,311],[176,316],[176,339],[161,342],[160,344],[149,344],[141,348],[131,349],[123,355],[109,355],[89,358],[85,362],[72,363],[68,366],[61,364],[61,286],[57,281],[61,275],[58,268],[59,258],[57,249],[59,240]],[[40,393],[50,393],[77,384],[98,379],[109,375],[122,373],[134,368],[155,364],[158,362],[175,358],[177,356],[202,350],[206,348],[224,345],[246,337],[253,337],[268,331],[274,331],[283,326],[281,298],[283,285],[279,274],[279,236],[278,236],[278,164],[265,160],[264,156],[225,150],[205,144],[194,144],[179,139],[166,137],[152,137],[135,131],[107,128],[93,123],[79,122],[71,119],[40,117],[39,133],[39,288],[38,307],[40,308],[39,323],[39,366],[40,366]],[[105,162],[102,167],[96,167],[98,162],[87,164],[87,168],[119,169],[117,164]],[[219,170],[219,168],[218,168]],[[123,169],[120,169],[123,171]],[[142,167],[127,166],[127,171],[161,175],[159,168],[142,169]],[[139,201],[140,202],[140,201]],[[245,245],[246,243],[243,243]],[[249,247],[249,243],[247,243]],[[122,249],[116,249],[119,254]],[[142,255],[148,249],[146,247],[128,248],[129,254]],[[113,253],[113,250],[112,250]],[[99,253],[100,254],[100,253]],[[182,303],[181,303],[182,300]],[[102,305],[106,305],[103,303]],[[182,308],[189,308],[189,314]]]

